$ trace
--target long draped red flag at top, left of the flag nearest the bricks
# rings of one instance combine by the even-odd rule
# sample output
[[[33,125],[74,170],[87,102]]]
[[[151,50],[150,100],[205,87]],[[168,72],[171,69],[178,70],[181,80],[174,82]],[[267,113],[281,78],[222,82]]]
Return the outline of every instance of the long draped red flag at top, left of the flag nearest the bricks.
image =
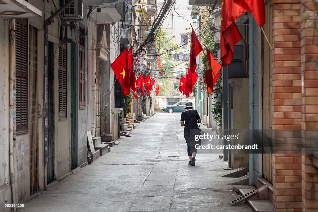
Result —
[[[229,65],[233,58],[233,47],[242,39],[235,20],[245,13],[245,9],[232,0],[222,0],[220,52],[222,65]]]

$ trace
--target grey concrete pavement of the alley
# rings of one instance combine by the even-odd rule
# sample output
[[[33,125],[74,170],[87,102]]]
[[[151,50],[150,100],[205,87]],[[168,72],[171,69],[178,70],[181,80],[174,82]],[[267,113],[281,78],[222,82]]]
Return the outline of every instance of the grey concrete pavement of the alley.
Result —
[[[25,204],[36,211],[252,211],[221,178],[217,154],[188,165],[180,113],[158,113],[120,139],[111,152]]]

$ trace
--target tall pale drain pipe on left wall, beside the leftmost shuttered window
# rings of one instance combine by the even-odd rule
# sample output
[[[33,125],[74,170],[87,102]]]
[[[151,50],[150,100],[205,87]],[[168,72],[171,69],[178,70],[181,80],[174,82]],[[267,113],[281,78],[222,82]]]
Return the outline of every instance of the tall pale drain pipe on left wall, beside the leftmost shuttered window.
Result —
[[[11,197],[12,203],[17,204],[17,192],[16,192],[16,182],[17,182],[17,160],[15,158],[16,153],[16,136],[15,136],[15,125],[16,125],[16,42],[15,42],[15,30],[16,30],[16,20],[8,19],[10,22],[10,47],[9,47],[9,166],[10,166],[10,186],[11,186]],[[9,25],[9,23],[8,23]],[[16,207],[13,207],[14,211],[17,211]]]

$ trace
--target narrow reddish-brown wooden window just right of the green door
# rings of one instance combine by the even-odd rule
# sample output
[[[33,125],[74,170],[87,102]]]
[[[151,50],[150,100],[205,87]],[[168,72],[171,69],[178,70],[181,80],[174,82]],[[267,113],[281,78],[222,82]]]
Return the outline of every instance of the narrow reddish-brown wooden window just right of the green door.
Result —
[[[80,27],[79,38],[79,108],[85,108],[85,28]]]

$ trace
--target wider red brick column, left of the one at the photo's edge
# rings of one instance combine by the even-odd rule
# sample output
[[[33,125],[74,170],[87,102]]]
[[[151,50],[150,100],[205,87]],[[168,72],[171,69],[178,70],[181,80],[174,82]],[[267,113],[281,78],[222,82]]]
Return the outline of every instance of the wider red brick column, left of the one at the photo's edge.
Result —
[[[300,4],[272,3],[273,129],[301,129]],[[301,211],[301,154],[273,154],[273,187],[276,212]]]

